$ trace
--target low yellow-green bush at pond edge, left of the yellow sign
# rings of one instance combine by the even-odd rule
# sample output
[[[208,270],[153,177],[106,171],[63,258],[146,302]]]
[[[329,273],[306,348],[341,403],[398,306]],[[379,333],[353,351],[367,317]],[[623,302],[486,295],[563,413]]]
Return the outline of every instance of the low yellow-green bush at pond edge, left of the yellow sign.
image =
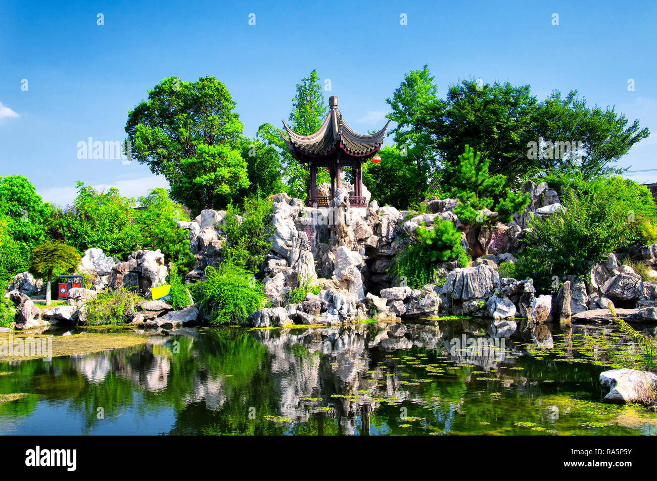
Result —
[[[137,294],[124,289],[98,293],[85,303],[85,324],[127,324],[137,305],[144,301]]]

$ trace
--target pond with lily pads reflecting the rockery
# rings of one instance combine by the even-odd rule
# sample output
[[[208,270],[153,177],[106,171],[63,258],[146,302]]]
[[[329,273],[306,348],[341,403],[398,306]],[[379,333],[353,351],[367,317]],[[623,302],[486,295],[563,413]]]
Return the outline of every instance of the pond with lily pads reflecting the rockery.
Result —
[[[145,339],[0,362],[0,434],[657,434],[656,413],[600,402],[600,372],[638,356],[610,325],[123,331]]]

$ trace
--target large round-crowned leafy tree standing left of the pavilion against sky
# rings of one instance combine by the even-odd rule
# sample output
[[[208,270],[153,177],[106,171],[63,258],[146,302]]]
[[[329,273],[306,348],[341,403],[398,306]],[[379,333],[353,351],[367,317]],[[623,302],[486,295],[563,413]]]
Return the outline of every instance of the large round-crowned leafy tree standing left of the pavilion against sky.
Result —
[[[196,82],[169,77],[128,113],[132,155],[162,174],[171,197],[193,213],[248,186],[240,155],[242,123],[235,101],[213,76]]]

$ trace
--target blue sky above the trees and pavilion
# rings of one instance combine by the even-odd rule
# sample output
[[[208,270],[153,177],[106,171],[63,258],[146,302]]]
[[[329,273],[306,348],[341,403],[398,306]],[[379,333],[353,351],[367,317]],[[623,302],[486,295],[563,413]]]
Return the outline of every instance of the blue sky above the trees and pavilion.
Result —
[[[252,136],[281,125],[295,83],[316,68],[365,133],[384,125],[404,73],[425,63],[440,96],[475,77],[530,84],[539,100],[577,89],[615,105],[654,132],[619,165],[657,168],[655,24],[655,1],[0,0],[0,176],[24,175],[62,204],[78,180],[140,196],[166,181],[136,161],[78,159],[77,145],[124,140],[128,110],[164,77],[215,75]],[[631,178],[655,182],[657,171]]]

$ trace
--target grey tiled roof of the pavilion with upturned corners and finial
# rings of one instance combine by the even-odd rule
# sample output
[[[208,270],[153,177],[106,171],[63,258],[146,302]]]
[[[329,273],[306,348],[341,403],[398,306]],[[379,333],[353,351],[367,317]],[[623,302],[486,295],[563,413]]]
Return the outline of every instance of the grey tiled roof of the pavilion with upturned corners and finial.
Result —
[[[281,136],[292,155],[295,157],[327,157],[342,150],[349,156],[365,157],[378,152],[383,144],[390,120],[377,133],[362,135],[353,131],[342,119],[342,114],[338,110],[337,96],[331,96],[328,99],[328,105],[330,110],[327,118],[319,130],[311,135],[299,135],[283,121],[288,136],[286,137],[283,133]],[[298,156],[298,154],[302,154],[302,156]]]

